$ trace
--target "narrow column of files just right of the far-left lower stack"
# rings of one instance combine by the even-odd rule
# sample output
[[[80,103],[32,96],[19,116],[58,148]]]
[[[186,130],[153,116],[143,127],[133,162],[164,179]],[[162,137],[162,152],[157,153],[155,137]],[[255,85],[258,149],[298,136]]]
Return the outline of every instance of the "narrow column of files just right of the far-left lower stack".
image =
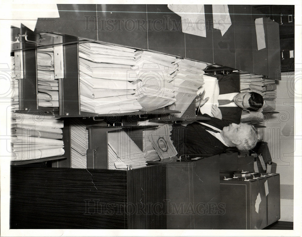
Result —
[[[70,122],[71,168],[87,168],[88,130],[79,119]]]

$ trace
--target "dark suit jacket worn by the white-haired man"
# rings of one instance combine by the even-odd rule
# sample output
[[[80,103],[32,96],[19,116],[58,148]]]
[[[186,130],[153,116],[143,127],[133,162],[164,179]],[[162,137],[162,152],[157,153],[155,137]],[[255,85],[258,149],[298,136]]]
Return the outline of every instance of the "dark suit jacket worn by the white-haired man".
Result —
[[[205,117],[210,117],[204,114]],[[210,120],[202,122],[210,124],[218,129],[223,129],[222,120],[210,117]],[[221,154],[227,147],[220,140],[201,127],[200,123],[194,122],[186,127],[173,125],[172,141],[178,155],[182,154]]]

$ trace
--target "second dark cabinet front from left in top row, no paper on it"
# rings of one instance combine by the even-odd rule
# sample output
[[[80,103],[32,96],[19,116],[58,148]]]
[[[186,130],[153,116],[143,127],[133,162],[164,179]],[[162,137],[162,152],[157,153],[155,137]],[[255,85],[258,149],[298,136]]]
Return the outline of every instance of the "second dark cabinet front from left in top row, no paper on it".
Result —
[[[97,5],[98,40],[147,49],[146,5]]]

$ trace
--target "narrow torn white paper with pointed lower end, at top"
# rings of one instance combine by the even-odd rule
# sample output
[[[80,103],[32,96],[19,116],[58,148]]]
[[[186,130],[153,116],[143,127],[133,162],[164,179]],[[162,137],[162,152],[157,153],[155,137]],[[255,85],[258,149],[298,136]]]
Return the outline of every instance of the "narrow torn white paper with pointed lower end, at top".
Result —
[[[221,36],[232,25],[229,7],[227,5],[212,5],[213,9],[213,27],[221,31]]]

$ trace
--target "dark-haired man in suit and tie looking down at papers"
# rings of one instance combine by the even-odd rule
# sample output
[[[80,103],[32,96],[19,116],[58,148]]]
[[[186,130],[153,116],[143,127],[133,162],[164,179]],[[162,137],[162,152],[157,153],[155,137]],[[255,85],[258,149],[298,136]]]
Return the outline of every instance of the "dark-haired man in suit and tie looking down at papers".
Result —
[[[214,75],[212,75],[214,76]],[[223,120],[224,125],[230,123],[240,123],[242,110],[257,111],[263,106],[262,95],[256,92],[241,92],[239,74],[220,75],[214,77],[218,79],[219,85],[219,105],[212,106],[212,114],[215,118]],[[198,105],[200,97],[196,98]]]

